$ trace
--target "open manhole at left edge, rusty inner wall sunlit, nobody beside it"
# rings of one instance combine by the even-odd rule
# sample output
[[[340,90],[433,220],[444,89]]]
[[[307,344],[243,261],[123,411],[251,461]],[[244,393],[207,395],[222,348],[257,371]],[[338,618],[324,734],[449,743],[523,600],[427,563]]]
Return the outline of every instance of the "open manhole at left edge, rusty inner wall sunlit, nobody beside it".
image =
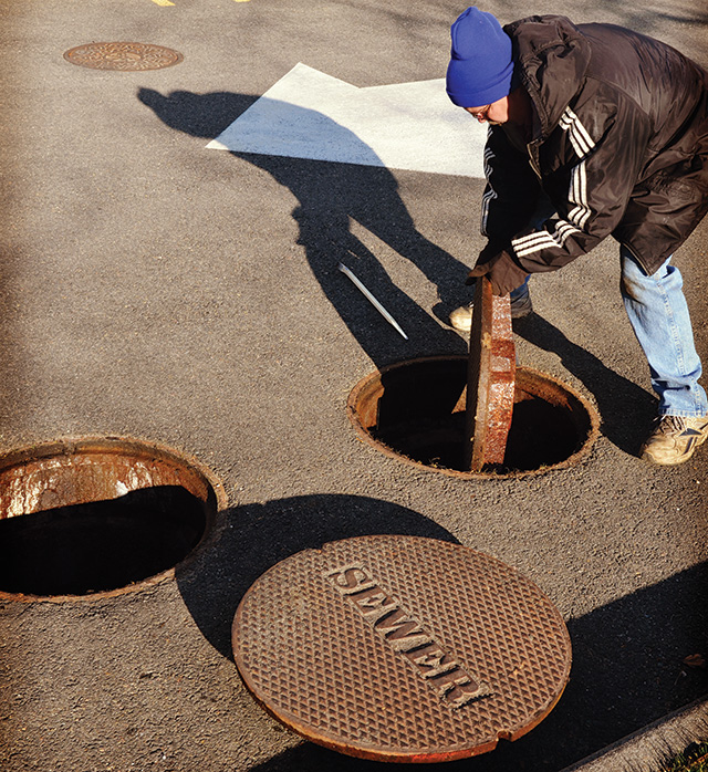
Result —
[[[119,594],[174,575],[225,504],[196,459],[123,437],[0,455],[0,597]]]

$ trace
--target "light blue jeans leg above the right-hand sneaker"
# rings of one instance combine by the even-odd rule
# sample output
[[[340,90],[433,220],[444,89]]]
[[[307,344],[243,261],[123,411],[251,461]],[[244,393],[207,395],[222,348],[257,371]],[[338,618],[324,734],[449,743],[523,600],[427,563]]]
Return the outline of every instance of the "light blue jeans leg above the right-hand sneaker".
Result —
[[[698,384],[701,365],[679,270],[670,258],[648,277],[624,247],[620,250],[624,307],[649,363],[659,415],[695,418],[708,413]]]

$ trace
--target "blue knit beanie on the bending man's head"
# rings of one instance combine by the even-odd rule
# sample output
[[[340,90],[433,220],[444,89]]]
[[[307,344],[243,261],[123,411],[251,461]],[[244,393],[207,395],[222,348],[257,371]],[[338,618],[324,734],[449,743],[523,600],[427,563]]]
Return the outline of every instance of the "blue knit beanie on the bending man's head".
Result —
[[[459,107],[483,107],[511,91],[511,38],[491,13],[468,8],[450,29],[447,95]]]

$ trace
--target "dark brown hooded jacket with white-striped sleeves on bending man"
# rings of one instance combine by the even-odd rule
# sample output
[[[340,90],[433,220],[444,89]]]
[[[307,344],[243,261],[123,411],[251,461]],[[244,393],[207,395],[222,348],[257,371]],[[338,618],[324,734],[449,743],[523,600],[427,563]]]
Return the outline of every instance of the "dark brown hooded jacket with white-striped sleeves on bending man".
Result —
[[[708,72],[612,24],[545,15],[504,30],[533,136],[523,147],[508,126],[490,127],[482,233],[525,273],[610,234],[654,273],[708,210]],[[542,191],[556,215],[534,228]]]

